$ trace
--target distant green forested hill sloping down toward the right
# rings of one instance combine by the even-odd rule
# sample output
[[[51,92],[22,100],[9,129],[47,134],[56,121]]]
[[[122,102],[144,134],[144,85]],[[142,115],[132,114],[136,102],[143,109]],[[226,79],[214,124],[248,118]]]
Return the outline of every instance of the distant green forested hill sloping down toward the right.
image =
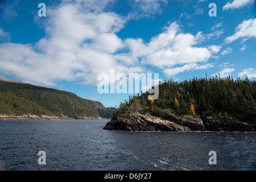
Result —
[[[0,113],[9,115],[63,115],[71,118],[111,118],[101,102],[71,92],[0,78]]]

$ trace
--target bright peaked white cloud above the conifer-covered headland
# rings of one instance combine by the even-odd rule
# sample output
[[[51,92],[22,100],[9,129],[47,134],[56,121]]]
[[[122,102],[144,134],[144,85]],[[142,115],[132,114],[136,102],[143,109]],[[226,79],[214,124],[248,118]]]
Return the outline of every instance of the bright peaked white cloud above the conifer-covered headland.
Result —
[[[149,43],[133,40],[133,53],[143,56],[143,63],[155,65],[159,68],[171,67],[177,64],[189,64],[207,61],[210,51],[207,48],[195,47],[197,36],[179,33],[176,22],[166,27],[166,31],[152,38]]]

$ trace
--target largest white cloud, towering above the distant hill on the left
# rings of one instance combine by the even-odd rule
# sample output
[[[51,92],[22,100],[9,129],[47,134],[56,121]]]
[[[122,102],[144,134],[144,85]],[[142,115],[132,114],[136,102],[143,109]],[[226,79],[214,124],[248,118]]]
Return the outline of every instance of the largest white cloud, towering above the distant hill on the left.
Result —
[[[124,73],[139,70],[114,57],[123,46],[115,35],[125,24],[119,15],[90,13],[83,11],[81,3],[66,2],[57,9],[47,7],[47,16],[47,36],[35,46],[0,44],[1,73],[36,85],[56,86],[63,80],[97,84],[97,75],[110,68]]]

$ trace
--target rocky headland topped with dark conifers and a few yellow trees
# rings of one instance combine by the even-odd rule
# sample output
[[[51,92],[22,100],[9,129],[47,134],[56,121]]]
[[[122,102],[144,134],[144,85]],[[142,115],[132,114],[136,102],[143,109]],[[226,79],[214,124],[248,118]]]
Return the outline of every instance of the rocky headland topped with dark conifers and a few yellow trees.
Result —
[[[148,92],[121,102],[105,130],[256,131],[256,82],[247,77],[193,78],[159,82],[159,98]]]

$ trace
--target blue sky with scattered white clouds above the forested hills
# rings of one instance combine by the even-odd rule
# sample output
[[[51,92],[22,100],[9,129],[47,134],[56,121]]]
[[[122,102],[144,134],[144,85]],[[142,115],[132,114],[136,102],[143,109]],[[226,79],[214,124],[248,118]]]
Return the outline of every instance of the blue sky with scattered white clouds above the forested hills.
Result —
[[[123,84],[129,74],[153,84],[206,74],[253,79],[255,38],[254,0],[6,0],[0,77],[119,106],[138,92]],[[99,92],[102,84],[109,92]]]

